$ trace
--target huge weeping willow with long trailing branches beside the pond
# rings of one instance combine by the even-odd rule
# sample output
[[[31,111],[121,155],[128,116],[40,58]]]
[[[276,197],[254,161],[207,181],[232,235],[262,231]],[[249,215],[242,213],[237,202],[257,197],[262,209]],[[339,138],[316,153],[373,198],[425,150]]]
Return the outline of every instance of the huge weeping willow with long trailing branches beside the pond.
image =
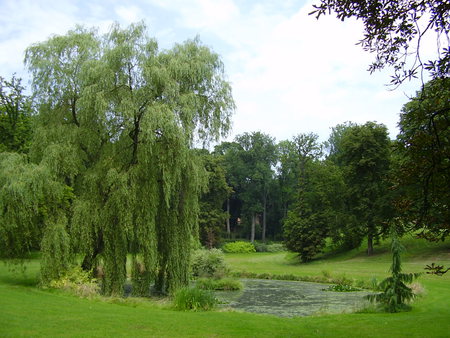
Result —
[[[198,39],[159,50],[136,24],[102,36],[77,27],[29,47],[25,62],[39,114],[24,166],[47,173],[56,211],[2,250],[31,236],[54,261],[81,253],[86,270],[101,262],[105,294],[122,293],[129,254],[133,280],[164,293],[186,284],[206,178],[193,145],[226,134],[234,110],[218,55]],[[43,279],[66,265],[44,259]]]

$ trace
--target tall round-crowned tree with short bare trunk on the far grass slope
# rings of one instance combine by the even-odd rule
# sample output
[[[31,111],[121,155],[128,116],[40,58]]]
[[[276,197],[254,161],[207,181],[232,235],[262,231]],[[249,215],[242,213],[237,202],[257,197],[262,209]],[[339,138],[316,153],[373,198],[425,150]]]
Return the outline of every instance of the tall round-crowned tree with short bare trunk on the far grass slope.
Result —
[[[390,217],[390,148],[384,125],[367,122],[349,127],[342,135],[338,163],[343,166],[348,207],[361,236],[367,236],[367,253],[373,241],[388,230]],[[358,231],[359,229],[359,231]]]

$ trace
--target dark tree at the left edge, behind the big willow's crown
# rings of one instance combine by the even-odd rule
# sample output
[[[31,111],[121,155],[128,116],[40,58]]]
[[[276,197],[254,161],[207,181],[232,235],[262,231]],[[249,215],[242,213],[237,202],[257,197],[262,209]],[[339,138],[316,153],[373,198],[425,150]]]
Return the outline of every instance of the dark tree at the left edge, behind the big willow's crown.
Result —
[[[0,152],[23,153],[30,146],[32,101],[21,82],[0,76]]]

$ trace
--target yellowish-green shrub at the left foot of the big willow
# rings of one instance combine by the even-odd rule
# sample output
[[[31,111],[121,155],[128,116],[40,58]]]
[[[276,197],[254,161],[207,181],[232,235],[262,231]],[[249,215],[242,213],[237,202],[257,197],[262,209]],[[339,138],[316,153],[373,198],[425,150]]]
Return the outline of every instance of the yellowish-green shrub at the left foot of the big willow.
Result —
[[[49,287],[69,291],[79,297],[92,297],[100,292],[97,280],[79,266],[70,269],[61,278],[50,281]]]

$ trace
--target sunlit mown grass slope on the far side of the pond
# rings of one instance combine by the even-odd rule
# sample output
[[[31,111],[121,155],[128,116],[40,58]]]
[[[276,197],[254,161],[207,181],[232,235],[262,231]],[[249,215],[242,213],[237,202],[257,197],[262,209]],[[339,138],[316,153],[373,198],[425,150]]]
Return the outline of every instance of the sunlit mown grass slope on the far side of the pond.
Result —
[[[402,254],[405,272],[425,272],[424,267],[431,262],[450,265],[449,241],[430,243],[410,235],[405,236],[401,241],[406,248]],[[344,253],[327,253],[306,264],[300,263],[296,254],[286,252],[227,254],[226,260],[231,270],[235,272],[294,276],[330,274],[332,277],[345,276],[349,279],[370,282],[373,278],[380,280],[389,275],[391,265],[389,246],[389,241],[382,242],[375,247],[375,253],[371,257],[367,257],[363,246]]]

